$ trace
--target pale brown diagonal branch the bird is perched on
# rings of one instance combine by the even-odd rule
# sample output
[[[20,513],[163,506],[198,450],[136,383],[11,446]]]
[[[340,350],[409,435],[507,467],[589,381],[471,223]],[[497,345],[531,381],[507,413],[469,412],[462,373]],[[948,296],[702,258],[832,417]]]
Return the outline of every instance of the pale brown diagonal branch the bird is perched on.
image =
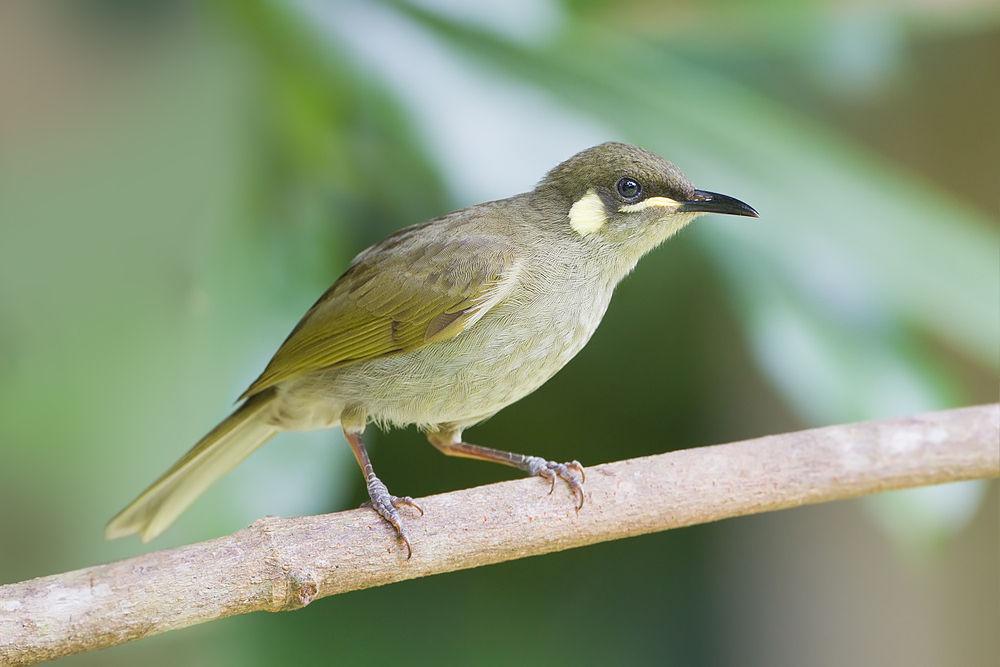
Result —
[[[370,510],[264,518],[228,537],[0,586],[0,663],[605,540],[869,493],[1000,476],[1000,404],[594,466],[576,513],[522,479],[420,501],[412,560]]]

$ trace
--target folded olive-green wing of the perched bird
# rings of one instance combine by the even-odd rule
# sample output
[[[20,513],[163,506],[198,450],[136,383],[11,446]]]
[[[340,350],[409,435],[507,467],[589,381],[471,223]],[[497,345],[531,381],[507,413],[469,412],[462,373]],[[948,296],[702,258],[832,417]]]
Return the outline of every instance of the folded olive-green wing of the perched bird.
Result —
[[[389,237],[359,255],[241,398],[310,371],[453,338],[517,281],[520,261],[500,239],[419,237]]]

